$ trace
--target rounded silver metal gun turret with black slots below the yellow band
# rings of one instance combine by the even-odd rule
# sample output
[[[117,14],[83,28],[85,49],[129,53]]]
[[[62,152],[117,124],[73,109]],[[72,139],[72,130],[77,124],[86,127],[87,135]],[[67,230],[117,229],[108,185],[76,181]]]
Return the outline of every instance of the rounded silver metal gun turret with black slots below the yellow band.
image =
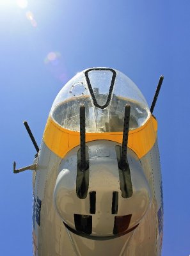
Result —
[[[61,161],[54,189],[56,210],[63,222],[77,232],[97,237],[126,234],[139,224],[151,201],[141,163],[136,154],[128,150],[131,195],[124,198],[122,179],[129,179],[129,175],[120,175],[118,145],[112,141],[91,141],[86,145],[89,169],[85,175],[79,177],[77,173],[79,147]],[[83,197],[77,194],[79,186],[82,186]],[[127,186],[130,186],[129,180]]]

